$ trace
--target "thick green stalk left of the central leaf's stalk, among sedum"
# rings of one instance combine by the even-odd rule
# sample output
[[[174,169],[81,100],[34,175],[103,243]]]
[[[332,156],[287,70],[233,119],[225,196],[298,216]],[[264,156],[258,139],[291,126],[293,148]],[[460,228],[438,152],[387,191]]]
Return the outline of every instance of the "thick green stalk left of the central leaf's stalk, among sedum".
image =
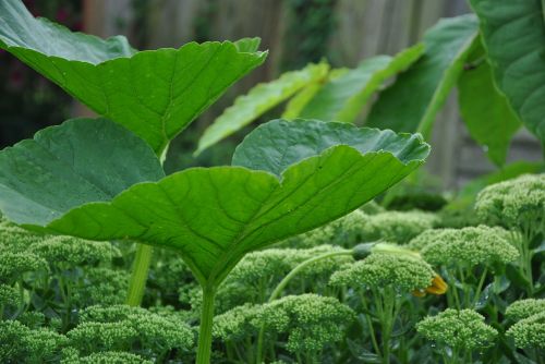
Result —
[[[154,248],[150,245],[138,244],[136,256],[133,262],[131,280],[129,281],[129,292],[125,303],[130,306],[140,306],[146,290],[147,272],[152,264]]]

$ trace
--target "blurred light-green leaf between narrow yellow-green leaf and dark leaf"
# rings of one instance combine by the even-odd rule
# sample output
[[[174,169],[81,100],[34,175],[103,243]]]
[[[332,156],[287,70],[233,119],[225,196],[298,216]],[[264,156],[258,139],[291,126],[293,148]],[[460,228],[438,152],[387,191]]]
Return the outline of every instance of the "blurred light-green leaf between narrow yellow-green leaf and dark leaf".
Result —
[[[423,52],[424,46],[419,44],[396,57],[377,56],[364,60],[358,68],[324,85],[299,117],[354,122],[384,81],[405,70]]]

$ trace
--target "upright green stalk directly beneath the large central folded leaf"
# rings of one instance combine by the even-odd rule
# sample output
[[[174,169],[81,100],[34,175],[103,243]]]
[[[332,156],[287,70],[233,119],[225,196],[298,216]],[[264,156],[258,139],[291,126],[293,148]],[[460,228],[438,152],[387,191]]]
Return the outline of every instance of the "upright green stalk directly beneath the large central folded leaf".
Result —
[[[198,348],[196,364],[209,364],[211,354],[211,326],[214,321],[214,300],[216,287],[203,287],[203,307],[198,328]]]

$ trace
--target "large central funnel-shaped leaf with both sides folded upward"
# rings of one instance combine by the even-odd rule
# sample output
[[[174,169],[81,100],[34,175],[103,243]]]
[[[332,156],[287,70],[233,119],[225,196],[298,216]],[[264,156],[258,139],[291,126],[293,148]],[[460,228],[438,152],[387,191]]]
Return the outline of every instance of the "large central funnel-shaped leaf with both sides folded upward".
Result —
[[[89,133],[88,126],[97,124],[105,129]],[[119,128],[109,124],[112,131]],[[68,121],[39,133],[38,139],[47,138],[59,151],[66,149],[64,163],[49,163],[47,148],[29,147],[37,141],[1,151],[0,206],[5,217],[50,233],[170,247],[181,253],[202,284],[213,286],[247,252],[354,210],[417,168],[429,151],[420,135],[277,120],[244,139],[233,167],[192,168],[154,181],[160,175],[158,161],[148,163],[152,153],[142,146],[144,142],[125,150],[128,143],[116,134],[118,146],[108,150],[112,139],[95,137],[108,135],[107,125],[107,121]],[[61,141],[57,141],[58,131],[62,131]],[[129,131],[125,134],[134,139]],[[78,143],[62,142],[66,139]],[[92,147],[97,154],[93,162]],[[104,158],[108,151],[113,160],[141,154],[145,167],[110,166],[110,158]],[[9,163],[12,168],[4,168]],[[90,168],[84,173],[85,166]],[[117,168],[118,174],[131,171],[152,182],[136,183],[113,198],[94,192],[95,181],[108,181],[105,171],[116,175]],[[135,171],[141,169],[154,173]],[[37,183],[41,173],[59,174],[60,180],[41,181],[51,184],[44,189]],[[77,201],[63,203],[72,194],[78,196],[69,198]],[[38,209],[53,214],[36,214]]]

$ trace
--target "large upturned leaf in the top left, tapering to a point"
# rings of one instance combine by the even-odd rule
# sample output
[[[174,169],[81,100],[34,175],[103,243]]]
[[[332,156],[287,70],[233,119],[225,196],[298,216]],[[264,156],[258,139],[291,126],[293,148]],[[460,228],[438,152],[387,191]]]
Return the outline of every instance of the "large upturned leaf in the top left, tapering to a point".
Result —
[[[0,48],[66,93],[146,141],[160,154],[266,52],[242,44],[190,43],[179,49],[135,51],[124,37],[100,39],[44,19],[20,0],[0,1]]]

